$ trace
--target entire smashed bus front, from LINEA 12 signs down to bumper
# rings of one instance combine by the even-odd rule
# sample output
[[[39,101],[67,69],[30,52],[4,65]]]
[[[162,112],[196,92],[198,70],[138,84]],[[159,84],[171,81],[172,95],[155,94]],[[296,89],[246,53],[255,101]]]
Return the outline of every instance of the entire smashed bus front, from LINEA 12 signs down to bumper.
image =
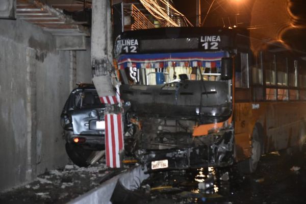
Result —
[[[234,160],[232,34],[193,31],[124,32],[115,43],[125,152],[148,172]]]

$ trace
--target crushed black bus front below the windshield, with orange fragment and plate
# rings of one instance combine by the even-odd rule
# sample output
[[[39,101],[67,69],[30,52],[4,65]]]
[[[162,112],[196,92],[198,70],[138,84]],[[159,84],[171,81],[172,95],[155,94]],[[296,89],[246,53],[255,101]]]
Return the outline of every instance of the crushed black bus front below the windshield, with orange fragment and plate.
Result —
[[[148,171],[232,164],[230,90],[227,81],[121,85],[135,157]]]

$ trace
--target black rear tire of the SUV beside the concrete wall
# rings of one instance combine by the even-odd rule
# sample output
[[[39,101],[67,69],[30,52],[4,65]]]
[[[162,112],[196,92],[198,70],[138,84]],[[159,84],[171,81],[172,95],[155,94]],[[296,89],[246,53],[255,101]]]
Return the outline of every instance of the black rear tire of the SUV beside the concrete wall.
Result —
[[[87,161],[87,159],[92,154],[92,150],[83,149],[81,146],[70,144],[68,142],[66,142],[65,147],[68,157],[74,164],[80,167],[89,166],[89,162]]]

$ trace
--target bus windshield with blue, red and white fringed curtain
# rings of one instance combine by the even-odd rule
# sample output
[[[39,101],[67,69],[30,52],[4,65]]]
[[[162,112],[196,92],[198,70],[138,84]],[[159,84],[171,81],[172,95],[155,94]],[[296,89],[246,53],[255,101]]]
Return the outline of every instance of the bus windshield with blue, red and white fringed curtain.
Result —
[[[219,52],[189,52],[121,55],[118,58],[121,78],[125,84],[159,85],[180,80],[220,81]]]

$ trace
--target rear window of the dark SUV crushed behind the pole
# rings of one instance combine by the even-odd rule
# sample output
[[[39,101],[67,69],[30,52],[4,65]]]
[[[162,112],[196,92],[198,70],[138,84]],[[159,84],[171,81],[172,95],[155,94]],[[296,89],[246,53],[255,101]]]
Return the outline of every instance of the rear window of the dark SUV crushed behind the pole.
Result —
[[[77,108],[101,107],[99,96],[96,91],[79,91],[74,96]]]

